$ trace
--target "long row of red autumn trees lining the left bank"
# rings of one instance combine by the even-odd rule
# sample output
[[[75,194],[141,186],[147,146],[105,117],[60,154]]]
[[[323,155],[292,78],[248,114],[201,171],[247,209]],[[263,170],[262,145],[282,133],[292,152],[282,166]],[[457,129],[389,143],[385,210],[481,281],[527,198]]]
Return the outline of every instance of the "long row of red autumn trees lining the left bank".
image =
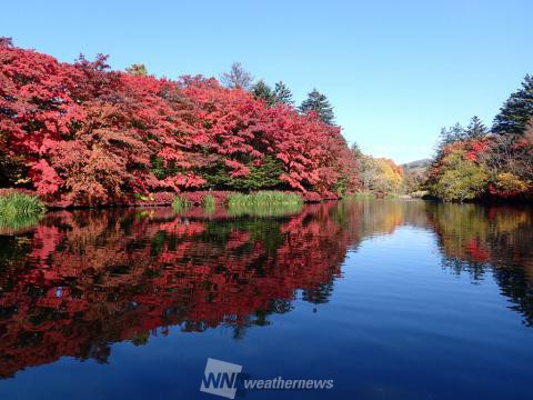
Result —
[[[265,86],[252,93],[139,70],[113,71],[101,54],[61,63],[3,40],[0,183],[64,206],[218,188],[319,199],[353,190],[341,130],[318,113],[265,101]]]

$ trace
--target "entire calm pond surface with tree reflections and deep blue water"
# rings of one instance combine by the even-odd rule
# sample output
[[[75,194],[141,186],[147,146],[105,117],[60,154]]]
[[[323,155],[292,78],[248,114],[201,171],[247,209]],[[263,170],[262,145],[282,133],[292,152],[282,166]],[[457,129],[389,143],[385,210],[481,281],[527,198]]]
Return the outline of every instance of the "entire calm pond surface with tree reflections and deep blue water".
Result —
[[[0,399],[217,399],[199,391],[208,358],[334,380],[250,399],[531,398],[530,209],[270,211],[61,211],[0,230]]]

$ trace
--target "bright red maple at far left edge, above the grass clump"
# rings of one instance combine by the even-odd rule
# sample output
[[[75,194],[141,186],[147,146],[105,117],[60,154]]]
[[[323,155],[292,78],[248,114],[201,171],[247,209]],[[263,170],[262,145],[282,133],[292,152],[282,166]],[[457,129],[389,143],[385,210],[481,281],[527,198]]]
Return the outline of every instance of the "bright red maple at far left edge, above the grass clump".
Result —
[[[69,137],[76,121],[83,118],[73,94],[73,74],[72,66],[16,48],[10,40],[0,41],[1,169],[26,172],[11,183],[32,183],[42,196],[56,192],[62,184],[51,157],[57,143]]]

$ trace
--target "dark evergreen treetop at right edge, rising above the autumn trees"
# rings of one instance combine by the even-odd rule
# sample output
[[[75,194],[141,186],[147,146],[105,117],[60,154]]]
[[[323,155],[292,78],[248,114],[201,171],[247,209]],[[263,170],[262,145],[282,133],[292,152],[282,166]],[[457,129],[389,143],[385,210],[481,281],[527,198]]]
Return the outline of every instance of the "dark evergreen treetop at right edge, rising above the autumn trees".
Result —
[[[522,88],[512,93],[494,118],[494,133],[524,133],[533,117],[533,77],[525,76]]]

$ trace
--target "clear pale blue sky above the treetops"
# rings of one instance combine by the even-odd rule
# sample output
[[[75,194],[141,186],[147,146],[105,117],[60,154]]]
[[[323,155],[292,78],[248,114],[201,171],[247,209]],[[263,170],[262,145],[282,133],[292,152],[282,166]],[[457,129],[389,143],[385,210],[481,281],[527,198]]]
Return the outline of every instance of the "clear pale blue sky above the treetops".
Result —
[[[170,78],[240,61],[298,102],[318,88],[350,142],[405,162],[430,157],[443,126],[491,124],[533,72],[532,14],[530,0],[9,1],[0,36]]]

